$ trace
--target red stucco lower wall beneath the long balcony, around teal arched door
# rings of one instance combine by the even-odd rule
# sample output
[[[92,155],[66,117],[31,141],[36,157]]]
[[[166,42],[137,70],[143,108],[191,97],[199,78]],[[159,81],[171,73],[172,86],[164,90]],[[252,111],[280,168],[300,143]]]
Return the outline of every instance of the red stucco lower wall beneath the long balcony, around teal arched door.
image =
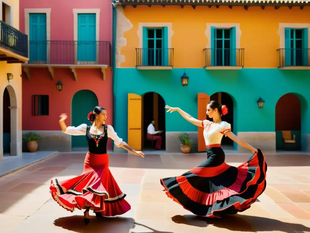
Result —
[[[112,124],[112,79],[111,69],[106,71],[106,80],[102,79],[101,69],[77,69],[78,81],[69,68],[55,69],[55,80],[52,80],[47,68],[30,68],[31,79],[23,72],[23,130],[60,130],[59,115],[67,113],[66,124],[71,125],[71,101],[73,95],[83,89],[93,91],[99,106],[108,112],[107,124]],[[63,83],[63,90],[56,90],[56,82]],[[49,116],[32,116],[32,95],[49,95]],[[92,111],[95,106],[89,106]],[[85,116],[87,118],[87,116]]]

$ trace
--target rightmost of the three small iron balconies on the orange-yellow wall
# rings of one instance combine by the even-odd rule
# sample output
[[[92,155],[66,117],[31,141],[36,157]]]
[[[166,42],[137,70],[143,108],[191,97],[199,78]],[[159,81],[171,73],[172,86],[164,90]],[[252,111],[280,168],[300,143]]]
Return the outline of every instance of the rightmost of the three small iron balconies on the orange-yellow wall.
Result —
[[[278,69],[280,70],[310,70],[308,48],[280,48],[278,53]]]

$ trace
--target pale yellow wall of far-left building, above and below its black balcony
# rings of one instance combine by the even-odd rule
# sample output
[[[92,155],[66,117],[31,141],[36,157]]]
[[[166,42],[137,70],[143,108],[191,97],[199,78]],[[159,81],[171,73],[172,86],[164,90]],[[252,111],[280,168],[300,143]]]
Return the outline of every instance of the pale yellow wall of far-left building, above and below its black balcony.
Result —
[[[2,2],[0,0],[0,2]],[[19,0],[6,0],[13,7],[13,27],[19,29]],[[12,17],[12,16],[11,16]],[[0,62],[0,90],[7,86],[7,73],[13,74],[13,79],[10,80],[11,86],[15,89],[17,97],[18,109],[18,130],[22,130],[22,86],[21,86],[21,64],[7,64],[7,62]],[[10,93],[11,95],[11,93]],[[3,93],[0,93],[0,97],[3,97]],[[1,99],[0,101],[3,101]],[[3,103],[0,104],[3,106]],[[5,124],[5,122],[3,122]]]

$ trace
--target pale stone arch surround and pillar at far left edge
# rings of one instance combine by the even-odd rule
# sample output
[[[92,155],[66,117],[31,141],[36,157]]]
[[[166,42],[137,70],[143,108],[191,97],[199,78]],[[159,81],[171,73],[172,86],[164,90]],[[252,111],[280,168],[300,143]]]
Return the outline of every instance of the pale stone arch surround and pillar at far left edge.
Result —
[[[3,97],[4,92],[7,92],[10,98],[9,106],[10,110],[10,135],[9,139],[6,143],[10,143],[9,152],[10,155],[21,155],[22,153],[22,133],[21,128],[19,129],[19,118],[18,118],[18,110],[19,110],[19,102],[18,102],[18,88],[14,82],[9,83],[8,81],[2,86],[0,95],[1,95],[1,103],[0,103],[0,160],[3,156],[3,124],[4,124],[4,115],[3,115]],[[8,104],[7,104],[8,105]],[[7,147],[8,148],[8,147]]]

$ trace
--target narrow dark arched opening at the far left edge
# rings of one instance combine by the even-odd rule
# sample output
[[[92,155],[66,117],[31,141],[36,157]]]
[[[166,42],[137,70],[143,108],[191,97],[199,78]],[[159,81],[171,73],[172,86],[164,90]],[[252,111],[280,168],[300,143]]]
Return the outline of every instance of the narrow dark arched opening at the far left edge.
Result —
[[[3,92],[3,153],[10,153],[11,144],[11,101],[7,88]]]

